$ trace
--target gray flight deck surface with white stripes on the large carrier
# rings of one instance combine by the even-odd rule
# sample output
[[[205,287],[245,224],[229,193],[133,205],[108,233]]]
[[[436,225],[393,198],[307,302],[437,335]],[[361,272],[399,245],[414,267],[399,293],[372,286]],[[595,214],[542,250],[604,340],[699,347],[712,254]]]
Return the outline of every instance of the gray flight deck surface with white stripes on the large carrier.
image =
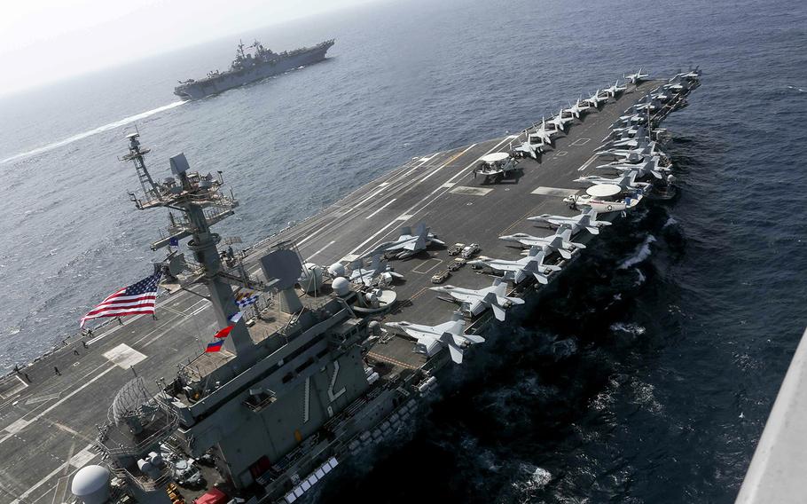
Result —
[[[499,235],[551,234],[525,218],[545,212],[576,214],[562,202],[562,195],[533,192],[539,187],[582,191],[584,185],[572,180],[585,173],[581,167],[596,164],[589,161],[607,128],[644,95],[642,91],[657,84],[643,83],[637,92],[630,86],[616,104],[610,100],[599,112],[576,122],[540,163],[522,160],[523,173],[517,179],[484,185],[482,177],[474,179],[472,173],[482,155],[508,150],[514,137],[425,155],[263,242],[250,260],[255,261],[271,243],[282,239],[296,241],[303,258],[327,266],[394,240],[401,226],[420,221],[448,245],[476,242],[482,246],[482,255],[517,258],[519,249],[498,240]],[[445,269],[451,260],[444,248],[433,246],[411,259],[392,261],[396,272],[405,277],[404,283],[395,286],[398,299],[411,300],[411,305],[404,303],[388,319],[421,324],[450,319],[456,305],[438,300],[438,294],[427,287],[432,286],[431,275]],[[251,270],[257,269],[253,263]],[[490,276],[466,266],[446,283],[487,287],[490,282]],[[133,377],[129,365],[134,364],[147,383],[160,377],[170,380],[177,363],[198,355],[213,334],[214,316],[208,308],[209,303],[195,295],[170,296],[158,306],[159,320],[137,317],[125,319],[123,326],[99,328],[92,339],[85,338],[89,349],[75,341],[27,366],[24,371],[30,382],[13,374],[0,380],[0,503],[69,501],[69,477],[83,465],[100,461],[91,449],[95,425],[106,421],[106,409],[115,392]],[[407,363],[417,366],[422,362],[406,350],[411,343],[388,346]],[[59,375],[53,366],[59,367]],[[156,385],[153,391],[157,391]]]

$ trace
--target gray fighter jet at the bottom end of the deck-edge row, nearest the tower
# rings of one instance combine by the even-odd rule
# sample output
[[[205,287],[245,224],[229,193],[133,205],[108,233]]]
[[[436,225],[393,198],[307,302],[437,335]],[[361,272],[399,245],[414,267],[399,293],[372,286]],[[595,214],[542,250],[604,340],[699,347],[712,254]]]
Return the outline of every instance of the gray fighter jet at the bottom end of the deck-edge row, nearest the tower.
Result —
[[[437,326],[421,326],[410,322],[387,322],[385,324],[398,333],[409,335],[414,338],[414,351],[422,353],[428,357],[435,355],[444,346],[448,347],[451,353],[451,360],[457,364],[462,364],[463,350],[475,343],[484,343],[485,338],[477,335],[466,335],[465,320],[462,315],[455,313],[449,322],[443,322]]]

